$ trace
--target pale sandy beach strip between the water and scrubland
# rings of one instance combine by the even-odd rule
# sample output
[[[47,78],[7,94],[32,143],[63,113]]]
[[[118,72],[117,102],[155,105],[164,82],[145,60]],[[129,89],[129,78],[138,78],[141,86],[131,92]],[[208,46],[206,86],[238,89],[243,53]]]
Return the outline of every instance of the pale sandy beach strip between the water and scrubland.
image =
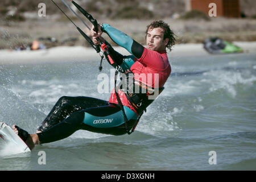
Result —
[[[255,53],[256,42],[233,42],[243,48],[244,53]],[[122,47],[114,49],[123,55],[130,55]],[[203,44],[176,44],[168,56],[205,56],[210,55],[204,50]],[[42,64],[56,62],[87,61],[100,58],[96,51],[90,47],[59,46],[36,51],[15,51],[9,49],[0,50],[0,64]]]

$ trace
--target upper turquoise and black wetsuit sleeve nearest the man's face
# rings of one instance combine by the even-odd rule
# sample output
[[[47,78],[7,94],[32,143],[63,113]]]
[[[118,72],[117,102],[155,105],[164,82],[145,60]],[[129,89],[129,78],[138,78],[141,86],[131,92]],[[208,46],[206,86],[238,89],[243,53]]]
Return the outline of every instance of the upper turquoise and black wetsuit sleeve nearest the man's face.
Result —
[[[130,36],[106,23],[102,24],[101,30],[103,32],[106,32],[109,37],[116,44],[118,44],[118,46],[125,48],[128,52],[130,52],[138,59],[142,56],[144,47],[141,46],[141,44],[137,43],[135,40],[133,40]]]

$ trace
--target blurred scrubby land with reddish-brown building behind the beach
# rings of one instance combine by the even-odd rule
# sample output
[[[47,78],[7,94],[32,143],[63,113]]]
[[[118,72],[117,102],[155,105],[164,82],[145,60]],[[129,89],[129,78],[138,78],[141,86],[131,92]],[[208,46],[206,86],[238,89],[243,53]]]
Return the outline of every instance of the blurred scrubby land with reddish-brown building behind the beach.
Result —
[[[55,0],[55,2],[88,33],[61,1]],[[217,36],[230,42],[256,40],[256,1],[254,0],[76,0],[76,2],[91,13],[99,23],[112,24],[142,44],[145,43],[144,32],[147,24],[155,19],[163,19],[170,24],[177,36],[177,44],[202,43],[209,36]],[[208,15],[210,10],[208,5],[211,2],[217,5],[217,17]],[[45,17],[38,16],[39,3],[46,4]],[[85,18],[84,20],[86,21]],[[90,23],[88,24],[91,26]],[[0,49],[26,47],[33,40],[43,42],[47,48],[89,46],[73,24],[51,1],[0,1]]]

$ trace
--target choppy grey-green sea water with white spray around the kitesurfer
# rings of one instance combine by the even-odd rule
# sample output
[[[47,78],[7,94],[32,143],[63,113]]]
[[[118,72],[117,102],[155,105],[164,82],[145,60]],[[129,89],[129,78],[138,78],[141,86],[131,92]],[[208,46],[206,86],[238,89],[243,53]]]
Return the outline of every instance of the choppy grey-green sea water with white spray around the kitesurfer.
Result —
[[[0,170],[255,170],[256,55],[169,59],[165,89],[133,134],[80,130],[28,154],[10,154],[0,142]],[[34,133],[61,96],[108,100],[110,93],[97,92],[99,64],[0,65],[0,121]],[[110,75],[111,67],[103,67]],[[38,163],[40,151],[46,164]]]

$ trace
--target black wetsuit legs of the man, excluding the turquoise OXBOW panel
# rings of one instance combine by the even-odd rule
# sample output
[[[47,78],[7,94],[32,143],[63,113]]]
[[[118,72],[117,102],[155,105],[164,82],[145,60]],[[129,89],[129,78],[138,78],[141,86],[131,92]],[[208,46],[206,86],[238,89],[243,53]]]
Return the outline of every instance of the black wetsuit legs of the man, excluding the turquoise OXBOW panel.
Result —
[[[51,112],[44,119],[38,130],[40,143],[49,143],[64,139],[77,130],[88,130],[96,133],[123,135],[126,134],[125,124],[116,127],[93,127],[86,125],[83,121],[85,113],[104,117],[120,112],[120,107],[110,104],[108,101],[91,97],[67,97],[63,96],[57,101]],[[120,118],[122,119],[122,118]],[[130,119],[129,130],[134,126],[136,120]],[[111,123],[110,123],[111,124]]]

